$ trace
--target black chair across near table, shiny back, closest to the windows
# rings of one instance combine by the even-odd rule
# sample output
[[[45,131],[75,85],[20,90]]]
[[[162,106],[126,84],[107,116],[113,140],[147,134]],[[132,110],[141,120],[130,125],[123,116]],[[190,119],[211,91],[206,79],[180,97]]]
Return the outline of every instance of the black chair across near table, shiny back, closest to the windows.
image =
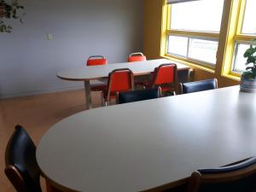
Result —
[[[207,79],[202,81],[180,84],[180,91],[182,94],[214,89],[218,89],[217,79]]]

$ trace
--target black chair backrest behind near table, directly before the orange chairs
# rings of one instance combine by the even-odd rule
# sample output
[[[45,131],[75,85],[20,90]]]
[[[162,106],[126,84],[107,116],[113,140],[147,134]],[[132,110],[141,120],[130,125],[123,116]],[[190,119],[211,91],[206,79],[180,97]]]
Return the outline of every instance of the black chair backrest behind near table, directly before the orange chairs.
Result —
[[[119,104],[126,102],[138,102],[148,99],[155,99],[161,96],[160,87],[147,90],[133,90],[128,92],[120,92],[118,96]]]

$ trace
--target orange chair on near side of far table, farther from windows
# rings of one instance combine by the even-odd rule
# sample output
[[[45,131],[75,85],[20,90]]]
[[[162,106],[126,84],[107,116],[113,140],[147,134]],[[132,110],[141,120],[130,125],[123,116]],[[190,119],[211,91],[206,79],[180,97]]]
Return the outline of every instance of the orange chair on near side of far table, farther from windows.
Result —
[[[119,92],[134,90],[134,75],[129,68],[115,69],[108,74],[108,88],[103,91],[105,106],[115,99]]]

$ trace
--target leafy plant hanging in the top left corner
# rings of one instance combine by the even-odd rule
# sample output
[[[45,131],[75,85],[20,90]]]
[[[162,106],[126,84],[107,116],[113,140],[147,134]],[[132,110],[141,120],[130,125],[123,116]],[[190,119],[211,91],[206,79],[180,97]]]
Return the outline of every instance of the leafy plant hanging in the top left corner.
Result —
[[[12,26],[5,23],[6,19],[20,20],[22,23],[20,15],[18,15],[19,9],[24,9],[24,7],[18,3],[18,0],[13,0],[11,3],[0,0],[0,32],[10,33],[12,31]]]

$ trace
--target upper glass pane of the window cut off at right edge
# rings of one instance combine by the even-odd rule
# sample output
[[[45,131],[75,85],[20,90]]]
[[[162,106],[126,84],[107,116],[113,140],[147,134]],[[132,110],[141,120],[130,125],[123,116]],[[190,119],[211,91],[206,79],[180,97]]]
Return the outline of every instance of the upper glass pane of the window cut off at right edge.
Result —
[[[241,33],[256,35],[255,9],[256,0],[247,0]]]

